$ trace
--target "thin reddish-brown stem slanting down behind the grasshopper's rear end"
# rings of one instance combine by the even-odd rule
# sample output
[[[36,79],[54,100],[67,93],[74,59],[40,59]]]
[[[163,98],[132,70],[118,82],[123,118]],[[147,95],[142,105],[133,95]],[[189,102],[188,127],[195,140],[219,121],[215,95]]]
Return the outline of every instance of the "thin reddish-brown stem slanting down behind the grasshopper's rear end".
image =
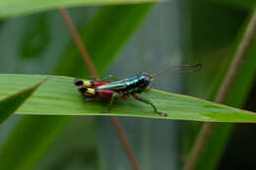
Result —
[[[60,11],[67,27],[69,28],[76,45],[78,46],[78,49],[79,49],[81,56],[85,62],[85,65],[88,67],[90,75],[94,76],[95,78],[98,79],[99,76],[96,72],[96,67],[95,67],[94,63],[92,62],[91,57],[86,49],[86,46],[83,43],[82,39],[80,38],[79,32],[78,32],[77,28],[74,26],[71,17],[69,16],[68,12],[64,8],[59,8],[59,11]],[[128,158],[132,164],[133,169],[140,170],[138,161],[132,151],[131,145],[128,142],[128,139],[124,133],[124,130],[123,130],[118,118],[113,116],[113,117],[110,117],[110,119],[111,119],[113,126],[115,127],[115,130],[117,132],[117,135],[118,135],[120,141],[122,142],[122,144],[125,148],[125,151],[128,155]]]

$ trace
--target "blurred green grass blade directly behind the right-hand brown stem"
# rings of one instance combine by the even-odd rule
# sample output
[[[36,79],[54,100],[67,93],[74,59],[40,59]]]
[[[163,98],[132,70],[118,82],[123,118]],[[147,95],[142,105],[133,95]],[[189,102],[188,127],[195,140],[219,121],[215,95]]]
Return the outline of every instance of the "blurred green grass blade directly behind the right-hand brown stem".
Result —
[[[237,48],[237,44],[241,38],[244,28],[247,27],[247,23],[243,26],[240,33],[237,36],[232,52],[229,55],[228,60],[224,63],[224,67],[220,70],[219,78],[214,82],[214,87],[212,89],[212,94],[209,97],[211,100],[215,98],[215,95],[218,91],[221,82],[224,79],[225,72],[228,68],[228,65],[232,59],[233,52]],[[239,74],[233,83],[230,91],[224,100],[224,103],[233,107],[242,108],[243,103],[246,101],[246,97],[249,94],[249,91],[255,81],[256,75],[256,42],[253,44],[251,50],[248,52],[246,61],[244,61],[243,67],[240,69]],[[234,124],[215,124],[213,127],[213,132],[209,138],[209,141],[206,144],[206,147],[202,154],[200,155],[199,162],[196,166],[196,170],[204,169],[218,169],[218,163],[224,152],[225,145],[228,142],[228,139],[232,133]]]

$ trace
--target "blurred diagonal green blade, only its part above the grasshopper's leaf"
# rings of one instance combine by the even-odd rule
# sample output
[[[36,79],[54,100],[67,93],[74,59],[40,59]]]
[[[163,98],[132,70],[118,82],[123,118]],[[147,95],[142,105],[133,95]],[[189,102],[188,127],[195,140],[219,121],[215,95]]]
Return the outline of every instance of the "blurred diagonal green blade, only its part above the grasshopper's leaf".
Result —
[[[94,19],[81,31],[81,37],[85,38],[88,52],[99,74],[106,70],[153,6],[154,4],[150,3],[102,7]],[[54,74],[81,78],[89,76],[74,43],[69,46]]]

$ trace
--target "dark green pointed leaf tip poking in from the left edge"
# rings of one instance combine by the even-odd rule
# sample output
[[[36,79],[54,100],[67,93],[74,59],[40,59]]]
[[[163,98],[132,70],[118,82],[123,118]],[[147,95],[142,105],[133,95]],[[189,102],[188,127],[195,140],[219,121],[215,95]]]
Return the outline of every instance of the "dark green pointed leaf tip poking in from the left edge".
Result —
[[[11,116],[30,96],[33,91],[41,85],[40,82],[36,85],[24,88],[19,92],[7,95],[6,98],[0,100],[0,125]]]

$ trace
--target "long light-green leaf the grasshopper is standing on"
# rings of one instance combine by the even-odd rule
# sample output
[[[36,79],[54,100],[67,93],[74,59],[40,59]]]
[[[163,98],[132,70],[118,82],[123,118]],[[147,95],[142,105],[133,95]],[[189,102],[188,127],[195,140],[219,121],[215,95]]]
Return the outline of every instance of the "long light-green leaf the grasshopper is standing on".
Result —
[[[28,86],[46,76],[36,75],[0,75],[0,98],[13,93],[17,88]],[[5,81],[4,81],[5,80]],[[144,92],[142,96],[149,98],[167,117],[159,116],[145,103],[129,98],[118,100],[112,106],[111,113],[102,114],[108,101],[85,102],[74,78],[52,77],[42,85],[34,95],[18,111],[24,115],[116,115],[160,119],[195,120],[211,122],[256,122],[256,114],[224,106],[210,101],[172,94],[157,89]],[[19,87],[17,87],[19,86]]]

